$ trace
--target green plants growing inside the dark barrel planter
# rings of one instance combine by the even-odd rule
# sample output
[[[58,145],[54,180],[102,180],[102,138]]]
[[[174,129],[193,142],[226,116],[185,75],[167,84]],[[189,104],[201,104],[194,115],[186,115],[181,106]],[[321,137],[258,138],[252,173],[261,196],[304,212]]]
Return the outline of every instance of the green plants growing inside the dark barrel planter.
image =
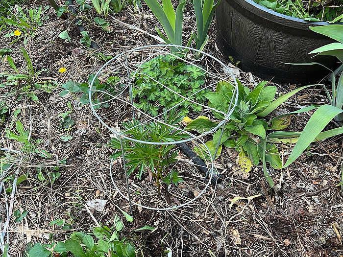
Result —
[[[330,2],[329,6],[321,5],[321,1],[300,0],[254,0],[256,3],[265,6],[275,12],[282,13],[309,22],[339,22],[343,20],[343,7],[341,1]],[[337,4],[335,4],[337,3]]]

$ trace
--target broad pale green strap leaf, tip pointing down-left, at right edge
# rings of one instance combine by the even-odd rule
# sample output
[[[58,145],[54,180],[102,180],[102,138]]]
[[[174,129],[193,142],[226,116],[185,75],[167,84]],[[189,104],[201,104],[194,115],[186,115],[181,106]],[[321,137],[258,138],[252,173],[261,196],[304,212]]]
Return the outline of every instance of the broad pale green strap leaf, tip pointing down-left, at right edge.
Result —
[[[338,114],[343,113],[342,109],[335,106],[324,104],[320,106],[310,117],[304,130],[301,132],[299,140],[296,142],[294,149],[288,158],[284,167],[292,164],[310,143],[319,135],[326,125]]]

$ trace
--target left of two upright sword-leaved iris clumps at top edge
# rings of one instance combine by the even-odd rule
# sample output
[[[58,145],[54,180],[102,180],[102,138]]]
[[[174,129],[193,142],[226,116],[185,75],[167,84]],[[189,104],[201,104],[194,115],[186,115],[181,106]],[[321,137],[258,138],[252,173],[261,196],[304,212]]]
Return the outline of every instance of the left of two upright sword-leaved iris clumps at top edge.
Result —
[[[171,0],[163,0],[162,6],[157,0],[145,0],[150,10],[154,13],[158,21],[162,24],[167,37],[155,26],[159,36],[167,43],[176,46],[182,46],[182,28],[183,28],[183,8],[186,1],[180,1],[176,7],[176,13],[172,7]],[[171,47],[172,50],[181,50]]]

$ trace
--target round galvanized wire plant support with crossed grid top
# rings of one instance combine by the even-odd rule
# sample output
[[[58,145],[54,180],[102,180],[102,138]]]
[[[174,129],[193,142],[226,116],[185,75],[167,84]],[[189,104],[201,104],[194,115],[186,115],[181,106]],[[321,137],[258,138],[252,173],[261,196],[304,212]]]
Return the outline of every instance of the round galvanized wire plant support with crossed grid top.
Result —
[[[158,48],[158,47],[160,47],[161,49],[156,50],[156,53],[155,53],[155,54],[157,54],[157,53],[158,53],[158,54],[163,54],[163,53],[165,53],[165,54],[172,55],[172,56],[174,56],[174,57],[176,57],[176,58],[178,58],[178,59],[180,59],[180,60],[182,60],[182,61],[184,61],[184,62],[186,62],[186,63],[188,63],[188,64],[191,64],[191,65],[193,65],[193,66],[196,66],[197,68],[199,68],[199,69],[201,69],[201,70],[204,70],[204,69],[203,69],[202,67],[199,67],[199,66],[195,65],[195,64],[192,63],[192,62],[189,62],[189,61],[186,60],[186,59],[183,59],[183,58],[181,58],[181,57],[179,57],[179,56],[176,56],[175,54],[171,53],[170,51],[167,51],[166,49],[167,49],[168,47],[176,47],[176,48],[178,48],[178,49],[182,48],[182,49],[184,49],[184,50],[186,50],[186,49],[187,49],[187,50],[191,50],[191,51],[196,52],[196,53],[198,53],[198,54],[202,54],[202,57],[207,56],[207,57],[212,58],[213,60],[215,60],[217,63],[219,63],[219,64],[221,65],[221,67],[222,67],[223,73],[224,73],[225,75],[227,75],[227,76],[226,76],[225,78],[222,78],[222,77],[220,77],[220,76],[218,76],[218,75],[215,75],[215,74],[209,72],[208,70],[204,70],[204,71],[206,71],[208,74],[214,76],[214,77],[215,77],[216,79],[218,79],[218,80],[217,80],[215,83],[213,83],[213,84],[207,85],[206,87],[202,87],[202,88],[201,88],[199,91],[197,91],[196,93],[198,93],[198,92],[204,90],[205,88],[208,88],[208,87],[210,87],[210,86],[213,86],[213,85],[217,84],[219,81],[225,81],[225,82],[227,82],[227,83],[231,83],[230,81],[227,80],[228,78],[231,78],[231,79],[233,80],[233,82],[234,82],[234,91],[233,91],[233,94],[232,94],[232,97],[231,97],[230,104],[229,104],[229,106],[228,106],[227,113],[224,113],[224,112],[222,112],[222,111],[216,110],[215,108],[211,108],[211,107],[202,105],[202,104],[200,104],[200,103],[197,103],[197,102],[191,100],[189,97],[195,95],[196,93],[190,95],[189,97],[185,97],[185,96],[183,96],[183,95],[181,95],[181,94],[178,94],[178,93],[172,91],[171,89],[169,89],[168,87],[166,87],[165,85],[163,85],[162,83],[160,83],[159,81],[157,81],[156,79],[154,79],[154,78],[148,76],[147,74],[139,72],[138,70],[139,70],[140,67],[142,66],[143,61],[141,62],[141,64],[138,66],[138,68],[137,68],[136,70],[131,70],[131,71],[133,71],[134,73],[133,73],[133,75],[130,77],[130,68],[129,68],[129,66],[128,66],[127,55],[128,55],[129,53],[138,52],[138,51],[140,51],[140,50],[144,50],[144,49],[147,49],[147,48]],[[184,54],[184,53],[183,53],[183,54]],[[109,65],[111,62],[113,62],[113,61],[115,61],[115,60],[118,60],[120,57],[123,57],[123,56],[124,56],[125,59],[126,59],[126,67],[125,67],[125,68],[126,68],[126,70],[127,70],[128,85],[126,85],[126,87],[122,90],[122,92],[119,94],[119,96],[120,96],[121,94],[123,94],[123,92],[125,92],[125,90],[128,88],[128,89],[129,89],[129,93],[130,93],[130,97],[131,97],[131,99],[130,99],[131,101],[130,101],[130,102],[129,102],[129,101],[126,101],[126,100],[123,100],[122,98],[119,98],[119,97],[116,96],[116,95],[112,95],[111,93],[104,92],[104,91],[101,91],[101,90],[98,90],[98,89],[94,88],[94,82],[95,82],[95,80],[97,79],[99,73],[100,73],[107,65]],[[151,58],[151,57],[148,57],[147,59],[150,59],[150,58]],[[147,61],[147,59],[144,60],[144,62]],[[123,66],[123,65],[122,65],[122,66]],[[165,87],[166,89],[172,91],[173,93],[178,94],[179,96],[181,96],[181,97],[183,98],[183,100],[182,100],[181,102],[179,102],[178,104],[176,104],[175,106],[173,106],[172,108],[170,108],[169,110],[166,110],[166,111],[164,111],[163,113],[157,115],[156,117],[151,117],[151,116],[147,115],[146,113],[142,112],[139,108],[137,108],[137,107],[134,105],[134,103],[133,103],[131,82],[132,82],[132,80],[134,79],[135,74],[143,74],[143,75],[147,76],[149,79],[152,79],[154,82],[156,82],[157,84],[161,85],[161,87]],[[123,103],[129,105],[129,106],[132,108],[133,119],[135,119],[135,112],[136,112],[136,111],[139,112],[139,113],[141,113],[141,114],[144,114],[146,117],[148,117],[148,119],[147,119],[146,121],[140,123],[139,125],[142,125],[142,124],[144,124],[144,123],[147,123],[148,121],[153,120],[153,121],[155,121],[155,122],[158,122],[158,123],[164,124],[164,125],[166,125],[166,126],[169,126],[169,127],[173,128],[173,129],[175,129],[175,130],[178,130],[178,131],[181,131],[181,132],[183,132],[183,133],[186,133],[186,134],[188,134],[188,135],[190,136],[190,138],[185,139],[185,140],[170,141],[170,142],[168,142],[168,141],[167,141],[167,142],[154,142],[154,141],[137,140],[137,139],[134,139],[134,138],[125,136],[124,134],[127,132],[127,130],[126,130],[126,131],[116,131],[115,129],[113,129],[113,128],[111,128],[110,126],[108,126],[108,125],[102,120],[101,117],[99,117],[99,115],[98,115],[98,113],[96,112],[96,110],[95,110],[94,107],[97,106],[97,105],[99,105],[99,104],[101,104],[101,103],[93,103],[92,98],[93,98],[93,93],[94,93],[94,92],[100,92],[100,93],[107,94],[108,96],[111,96],[112,99],[120,100],[121,102],[123,102]],[[226,124],[226,122],[230,119],[230,116],[231,116],[231,114],[233,113],[235,107],[237,106],[237,102],[238,102],[238,84],[237,84],[236,78],[235,78],[234,74],[231,72],[231,70],[229,70],[228,67],[227,67],[225,64],[223,64],[219,59],[217,59],[216,57],[212,56],[211,54],[208,54],[208,53],[203,52],[203,51],[198,50],[198,49],[194,49],[194,48],[191,48],[191,47],[175,46],[175,45],[173,45],[173,44],[169,44],[169,45],[159,44],[159,45],[151,45],[151,46],[136,47],[136,48],[133,48],[133,49],[130,49],[130,50],[123,51],[122,53],[116,55],[116,56],[113,57],[111,60],[109,60],[108,62],[106,62],[106,63],[97,71],[97,73],[95,74],[95,76],[93,77],[93,79],[92,79],[92,81],[91,81],[91,84],[89,85],[89,93],[88,93],[88,96],[89,96],[89,101],[90,101],[90,105],[91,105],[91,110],[92,110],[94,116],[97,117],[98,120],[100,121],[100,123],[103,124],[107,129],[109,129],[109,130],[116,136],[116,138],[119,139],[119,140],[121,141],[121,146],[122,146],[122,157],[123,157],[123,167],[124,167],[124,171],[125,171],[126,190],[127,190],[128,197],[126,197],[126,195],[123,194],[123,192],[119,189],[119,187],[118,187],[118,186],[116,185],[116,183],[114,182],[113,174],[112,174],[113,159],[112,159],[111,162],[110,162],[110,177],[111,177],[111,181],[112,181],[114,187],[118,190],[118,192],[120,193],[120,195],[123,196],[123,198],[126,199],[126,200],[129,202],[129,204],[130,204],[130,209],[131,209],[131,215],[132,215],[132,206],[131,206],[131,204],[134,204],[134,205],[136,205],[136,206],[139,206],[139,207],[142,207],[142,208],[145,208],[145,209],[149,209],[149,210],[173,210],[173,209],[178,209],[178,208],[184,207],[184,206],[186,206],[186,205],[188,205],[188,204],[191,204],[192,202],[194,202],[197,198],[199,198],[199,197],[207,190],[207,188],[208,188],[208,187],[210,186],[210,184],[211,184],[211,179],[212,179],[213,174],[214,174],[214,159],[215,159],[215,156],[217,155],[217,151],[218,151],[219,146],[220,146],[220,141],[221,141],[221,137],[222,137],[222,135],[223,135],[223,131],[224,131],[224,129],[225,129],[225,124]],[[192,133],[189,132],[189,131],[186,131],[186,130],[181,129],[181,128],[179,128],[179,127],[172,126],[172,125],[170,125],[170,124],[167,124],[167,123],[165,123],[165,122],[163,122],[163,121],[157,119],[158,117],[160,117],[161,115],[164,115],[165,113],[169,112],[169,111],[172,110],[173,108],[176,108],[176,106],[180,105],[180,104],[181,104],[182,102],[184,102],[184,101],[190,101],[190,102],[193,102],[193,103],[195,103],[195,104],[197,104],[197,105],[200,105],[200,106],[202,106],[202,107],[205,107],[205,108],[207,108],[207,109],[209,109],[209,110],[212,110],[212,111],[221,113],[221,114],[223,115],[224,119],[221,120],[221,121],[218,123],[218,125],[217,125],[216,127],[214,127],[213,129],[211,129],[211,130],[209,130],[209,131],[205,131],[205,132],[201,133],[201,135],[198,135],[198,136],[192,134]],[[139,126],[139,125],[137,125],[137,126]],[[212,156],[211,151],[209,150],[209,148],[207,147],[207,145],[201,140],[201,138],[204,137],[204,136],[206,136],[206,135],[208,135],[208,134],[210,134],[210,133],[216,132],[221,126],[222,126],[222,130],[221,130],[220,140],[219,140],[218,145],[217,145],[217,147],[216,147],[216,151],[215,151],[215,153],[214,153],[214,156]],[[170,145],[170,144],[184,143],[184,142],[188,142],[188,141],[192,141],[192,140],[199,140],[200,143],[202,144],[204,150],[206,151],[206,153],[208,154],[208,156],[210,157],[210,160],[211,160],[211,162],[210,162],[210,167],[208,168],[208,172],[207,172],[207,174],[206,174],[206,176],[205,176],[205,179],[206,179],[207,176],[208,176],[208,174],[209,174],[209,181],[208,181],[208,183],[207,183],[207,184],[205,185],[205,187],[200,191],[200,193],[199,193],[198,195],[196,195],[195,198],[189,200],[188,202],[186,202],[186,203],[184,203],[184,204],[180,204],[180,205],[178,205],[178,206],[172,206],[172,207],[167,207],[167,208],[153,208],[153,207],[144,206],[144,205],[141,205],[141,204],[139,204],[139,203],[137,203],[137,202],[131,201],[131,197],[130,197],[130,188],[129,188],[129,185],[128,185],[128,176],[127,176],[126,165],[125,165],[125,156],[124,156],[124,150],[123,150],[123,139],[129,140],[129,141],[132,141],[132,142],[136,142],[136,143],[145,143],[145,144],[153,144],[153,145]]]

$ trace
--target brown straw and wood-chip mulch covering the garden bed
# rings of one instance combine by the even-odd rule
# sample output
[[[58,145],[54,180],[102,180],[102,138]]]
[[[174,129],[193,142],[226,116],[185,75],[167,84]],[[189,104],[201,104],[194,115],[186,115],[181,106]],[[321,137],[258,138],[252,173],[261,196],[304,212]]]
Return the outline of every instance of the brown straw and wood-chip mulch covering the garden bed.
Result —
[[[38,4],[32,3],[34,6]],[[43,4],[46,5],[47,2]],[[31,3],[28,6],[30,7]],[[61,85],[66,81],[85,82],[91,73],[95,73],[104,64],[103,60],[98,59],[98,52],[114,56],[135,46],[159,44],[146,33],[119,24],[111,16],[107,17],[106,21],[110,23],[113,32],[106,33],[94,23],[88,22],[96,17],[96,14],[91,12],[83,21],[91,39],[100,47],[99,50],[92,50],[79,43],[81,36],[72,19],[60,20],[51,8],[49,17],[24,47],[34,68],[46,69],[38,80],[56,81],[58,86],[51,93],[42,89],[34,90],[39,98],[37,102],[30,100],[26,93],[18,88],[0,88],[0,100],[5,100],[9,106],[9,113],[0,127],[0,146],[19,151],[22,149],[21,143],[8,140],[5,136],[5,130],[11,126],[10,117],[16,109],[21,109],[18,119],[25,129],[31,131],[32,140],[42,140],[40,146],[44,146],[51,155],[50,159],[45,159],[38,154],[24,153],[20,175],[27,174],[28,179],[18,186],[14,210],[28,210],[28,214],[19,223],[15,223],[12,217],[11,256],[22,256],[29,242],[49,242],[49,238],[65,240],[68,233],[76,230],[91,232],[96,224],[84,208],[88,200],[107,200],[102,212],[92,209],[91,212],[98,222],[108,226],[113,224],[116,214],[123,216],[115,205],[129,213],[128,202],[114,188],[109,175],[109,155],[114,152],[106,146],[110,131],[94,117],[89,105],[79,106],[73,95],[62,97],[59,93]],[[137,12],[127,7],[115,18],[153,35],[157,34],[155,25],[161,29],[146,5]],[[184,21],[184,35],[196,30],[195,16],[189,4],[185,9]],[[227,63],[215,45],[214,24],[215,22],[210,28],[210,41],[205,50]],[[65,43],[58,34],[67,27],[70,27],[72,41]],[[12,39],[3,37],[8,30],[0,31],[1,47],[11,47],[14,50],[11,56],[17,67],[25,67],[20,51],[23,42],[19,40],[11,45]],[[61,67],[66,67],[65,74],[58,72]],[[1,72],[13,71],[4,60],[0,69]],[[254,81],[260,81],[248,73],[241,72],[241,76],[243,84],[250,87],[253,85],[251,77]],[[277,86],[278,93],[287,93],[298,85]],[[6,95],[9,90],[15,91]],[[22,94],[20,100],[18,94]],[[280,108],[293,111],[299,106],[324,102],[325,92],[318,86],[295,94]],[[75,121],[73,129],[69,131],[73,140],[63,142],[60,137],[66,132],[61,130],[59,125],[61,114],[68,111]],[[106,123],[113,127],[131,117],[130,108],[126,105],[101,108],[98,112],[103,116],[110,113]],[[293,116],[287,129],[301,131],[309,117],[309,114]],[[335,124],[331,123],[328,126],[334,127]],[[80,130],[84,133],[79,133]],[[292,146],[279,144],[278,148],[285,162]],[[183,257],[342,256],[343,194],[340,187],[336,187],[340,182],[342,148],[342,136],[313,143],[311,149],[287,169],[273,171],[272,178],[275,184],[279,185],[277,192],[269,190],[268,183],[263,178],[262,165],[254,167],[247,179],[236,177],[231,170],[235,159],[230,152],[223,149],[221,157],[215,162],[224,178],[221,184],[209,187],[195,203],[178,210],[155,211],[134,207],[135,221],[124,222],[123,236],[134,242],[138,256],[166,256],[162,254],[166,247],[172,250],[172,256]],[[181,153],[180,158],[185,159]],[[58,164],[58,161],[63,159],[66,163]],[[183,166],[185,174],[188,173],[196,179],[192,180],[188,187],[175,190],[182,191],[185,197],[193,198],[204,187],[201,182],[204,175],[187,162],[180,161],[179,165]],[[48,174],[56,172],[54,167],[57,166],[61,176],[51,185]],[[125,192],[120,159],[115,161],[113,170],[117,184]],[[39,179],[39,172],[45,175],[46,181]],[[130,178],[131,185],[137,183]],[[139,186],[149,188],[148,185],[147,178],[145,184]],[[260,197],[249,202],[238,201],[229,208],[235,196],[248,197],[261,193],[263,195]],[[9,196],[7,200],[9,201]],[[134,196],[133,200],[139,200],[139,197]],[[3,194],[0,201],[1,206],[4,206]],[[2,218],[5,219],[5,211],[2,212]],[[49,226],[49,223],[57,218],[64,218],[66,223],[70,224],[69,230],[61,230],[61,227],[56,225]],[[156,230],[152,233],[133,232],[145,225],[155,227]]]

